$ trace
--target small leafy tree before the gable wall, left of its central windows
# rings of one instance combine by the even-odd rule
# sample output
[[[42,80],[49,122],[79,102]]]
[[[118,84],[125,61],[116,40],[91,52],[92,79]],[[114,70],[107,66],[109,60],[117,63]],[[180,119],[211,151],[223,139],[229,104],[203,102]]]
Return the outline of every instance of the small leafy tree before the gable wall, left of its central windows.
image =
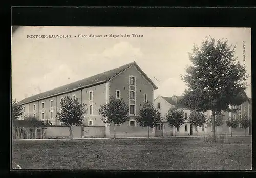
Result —
[[[111,96],[108,103],[101,105],[99,114],[102,116],[101,120],[104,123],[114,123],[114,139],[116,138],[116,124],[123,124],[129,121],[128,116],[129,106],[123,99],[116,99]]]

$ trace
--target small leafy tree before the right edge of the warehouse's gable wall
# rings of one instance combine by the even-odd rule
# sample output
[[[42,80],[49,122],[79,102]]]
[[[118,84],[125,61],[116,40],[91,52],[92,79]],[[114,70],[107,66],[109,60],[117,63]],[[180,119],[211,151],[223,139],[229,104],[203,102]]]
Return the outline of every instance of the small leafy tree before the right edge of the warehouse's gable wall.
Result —
[[[139,116],[136,116],[136,121],[140,126],[147,127],[147,138],[150,138],[150,128],[157,126],[161,122],[161,115],[152,103],[146,101],[139,110]]]

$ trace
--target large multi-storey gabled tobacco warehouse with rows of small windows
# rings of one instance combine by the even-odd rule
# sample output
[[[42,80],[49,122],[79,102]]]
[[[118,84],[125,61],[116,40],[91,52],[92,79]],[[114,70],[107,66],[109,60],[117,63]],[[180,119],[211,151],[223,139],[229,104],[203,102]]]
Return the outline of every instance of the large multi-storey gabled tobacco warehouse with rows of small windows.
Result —
[[[56,119],[60,102],[65,96],[77,98],[85,103],[88,109],[83,124],[86,126],[105,126],[106,137],[113,136],[113,124],[107,125],[98,113],[100,105],[108,102],[110,96],[122,98],[129,104],[130,120],[116,126],[117,137],[146,136],[147,128],[137,125],[135,116],[143,106],[144,101],[153,102],[154,90],[158,87],[132,62],[119,68],[106,71],[92,77],[82,79],[64,86],[54,88],[28,98],[18,104],[24,108],[24,116],[35,116],[38,120],[50,120],[53,125],[62,125]],[[22,119],[23,117],[20,117]],[[150,130],[155,135],[154,129]]]

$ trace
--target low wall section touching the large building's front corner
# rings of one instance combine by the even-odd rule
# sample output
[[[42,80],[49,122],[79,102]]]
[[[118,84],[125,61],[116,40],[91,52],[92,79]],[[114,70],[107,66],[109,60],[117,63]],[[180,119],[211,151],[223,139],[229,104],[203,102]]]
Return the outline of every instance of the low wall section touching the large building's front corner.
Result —
[[[83,127],[83,138],[105,137],[105,126],[86,126]]]

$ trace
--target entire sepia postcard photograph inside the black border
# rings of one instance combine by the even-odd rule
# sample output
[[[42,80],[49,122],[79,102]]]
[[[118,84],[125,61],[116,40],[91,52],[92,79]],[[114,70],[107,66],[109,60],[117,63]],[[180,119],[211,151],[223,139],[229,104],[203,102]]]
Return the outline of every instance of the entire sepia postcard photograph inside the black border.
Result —
[[[13,170],[251,170],[251,29],[12,26]]]

